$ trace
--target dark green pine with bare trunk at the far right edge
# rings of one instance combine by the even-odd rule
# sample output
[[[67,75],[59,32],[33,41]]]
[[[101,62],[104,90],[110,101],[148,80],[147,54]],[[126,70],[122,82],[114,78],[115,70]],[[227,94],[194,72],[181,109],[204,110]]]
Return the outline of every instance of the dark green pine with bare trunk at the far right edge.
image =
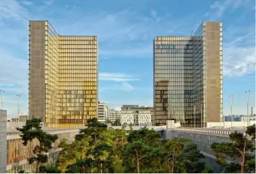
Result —
[[[214,142],[211,145],[211,149],[216,156],[216,162],[222,167],[226,168],[227,172],[255,172],[255,161],[254,155],[249,154],[249,152],[254,152],[254,143],[247,139],[247,136],[252,137],[252,141],[255,140],[255,124],[247,127],[245,134],[234,133],[229,134],[232,142]],[[240,163],[228,163],[227,159],[231,158],[239,160]]]

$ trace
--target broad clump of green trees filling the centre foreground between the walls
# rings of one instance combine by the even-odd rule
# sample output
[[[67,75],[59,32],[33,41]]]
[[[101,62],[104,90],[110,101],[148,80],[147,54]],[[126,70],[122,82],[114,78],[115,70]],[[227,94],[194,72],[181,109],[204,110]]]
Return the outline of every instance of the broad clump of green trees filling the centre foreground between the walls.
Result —
[[[126,131],[107,128],[96,119],[80,130],[72,144],[60,142],[57,167],[64,173],[201,173],[212,172],[197,146],[188,139],[161,141],[146,127]]]

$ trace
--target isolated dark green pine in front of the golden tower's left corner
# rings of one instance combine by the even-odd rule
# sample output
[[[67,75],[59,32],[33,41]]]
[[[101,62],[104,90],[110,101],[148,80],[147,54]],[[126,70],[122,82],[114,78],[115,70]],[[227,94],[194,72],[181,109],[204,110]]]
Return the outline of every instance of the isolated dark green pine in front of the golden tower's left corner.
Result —
[[[35,155],[27,159],[30,164],[37,162],[35,173],[39,172],[40,163],[46,163],[48,161],[46,153],[49,149],[52,149],[52,143],[58,139],[56,134],[45,133],[40,125],[41,122],[42,119],[40,118],[32,118],[27,120],[25,126],[22,126],[22,128],[16,128],[22,133],[21,139],[24,146],[27,146],[27,142],[32,141],[33,139],[37,139],[39,141],[39,145],[35,146],[33,150]]]

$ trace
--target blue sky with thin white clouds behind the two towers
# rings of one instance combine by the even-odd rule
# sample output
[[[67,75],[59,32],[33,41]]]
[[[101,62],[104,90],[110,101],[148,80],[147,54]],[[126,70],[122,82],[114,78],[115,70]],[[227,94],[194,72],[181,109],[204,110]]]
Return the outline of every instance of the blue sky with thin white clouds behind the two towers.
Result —
[[[223,107],[255,110],[254,0],[0,0],[0,89],[3,108],[27,113],[28,20],[48,20],[60,35],[96,35],[99,100],[109,108],[153,106],[153,38],[189,36],[203,21],[223,26]]]

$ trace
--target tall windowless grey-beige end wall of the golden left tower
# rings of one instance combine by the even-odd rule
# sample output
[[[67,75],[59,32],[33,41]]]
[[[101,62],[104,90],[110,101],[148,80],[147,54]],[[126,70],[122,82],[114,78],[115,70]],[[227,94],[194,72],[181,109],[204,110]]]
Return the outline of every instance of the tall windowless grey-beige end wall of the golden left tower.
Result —
[[[45,21],[29,22],[29,116],[45,123]]]

